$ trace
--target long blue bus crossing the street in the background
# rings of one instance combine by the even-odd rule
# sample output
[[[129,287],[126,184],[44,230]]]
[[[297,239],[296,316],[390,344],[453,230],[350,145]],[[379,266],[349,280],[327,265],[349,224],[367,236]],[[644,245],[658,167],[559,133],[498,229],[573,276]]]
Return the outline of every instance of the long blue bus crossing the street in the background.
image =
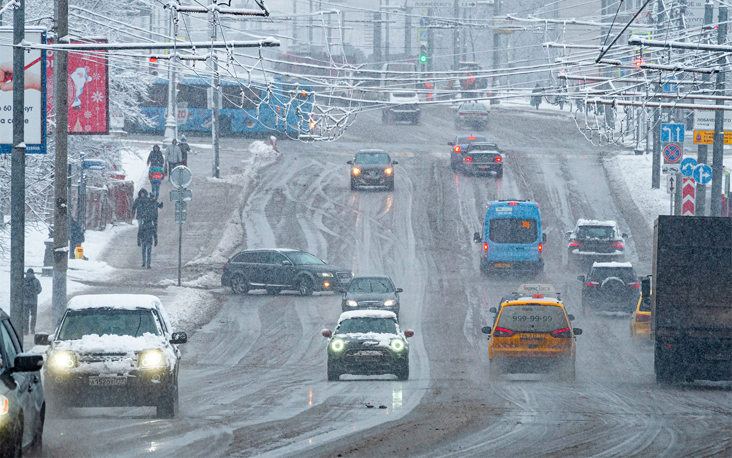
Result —
[[[178,81],[179,133],[211,132],[212,91],[208,79],[186,76]],[[308,133],[313,108],[310,86],[270,81],[242,86],[236,81],[220,81],[222,103],[220,133],[222,136],[277,135],[296,138]],[[269,88],[269,91],[268,91]],[[141,101],[141,111],[152,119],[153,125],[125,122],[128,132],[165,131],[168,109],[168,80],[156,78],[149,89],[149,100]]]

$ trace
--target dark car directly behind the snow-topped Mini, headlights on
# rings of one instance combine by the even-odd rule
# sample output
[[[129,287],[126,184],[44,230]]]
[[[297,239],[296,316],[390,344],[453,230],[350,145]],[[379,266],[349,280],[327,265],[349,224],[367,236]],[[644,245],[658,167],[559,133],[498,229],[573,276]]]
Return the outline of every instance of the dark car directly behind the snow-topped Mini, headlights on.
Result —
[[[399,317],[399,293],[387,276],[358,276],[351,279],[340,307],[351,310],[389,310]]]

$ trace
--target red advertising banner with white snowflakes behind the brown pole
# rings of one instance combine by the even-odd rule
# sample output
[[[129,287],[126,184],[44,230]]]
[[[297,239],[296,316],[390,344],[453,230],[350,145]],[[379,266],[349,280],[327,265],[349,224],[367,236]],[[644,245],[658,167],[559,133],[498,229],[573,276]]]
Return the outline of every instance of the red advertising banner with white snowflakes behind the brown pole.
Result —
[[[71,43],[107,43],[107,40],[72,40]],[[47,51],[46,111],[53,113],[53,51]],[[70,135],[109,134],[109,73],[106,51],[69,53],[68,117]]]

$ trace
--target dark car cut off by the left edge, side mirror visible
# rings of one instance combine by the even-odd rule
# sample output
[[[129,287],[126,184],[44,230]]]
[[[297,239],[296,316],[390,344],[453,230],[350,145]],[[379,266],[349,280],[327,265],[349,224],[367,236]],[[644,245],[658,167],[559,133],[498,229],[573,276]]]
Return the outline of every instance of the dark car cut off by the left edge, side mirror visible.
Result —
[[[45,396],[42,355],[23,353],[23,343],[0,310],[0,457],[40,454]]]

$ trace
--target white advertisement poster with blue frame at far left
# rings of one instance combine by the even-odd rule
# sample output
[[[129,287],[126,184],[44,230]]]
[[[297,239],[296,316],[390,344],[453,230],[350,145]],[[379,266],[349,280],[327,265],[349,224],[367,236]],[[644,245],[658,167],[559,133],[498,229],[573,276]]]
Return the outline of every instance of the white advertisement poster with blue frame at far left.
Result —
[[[12,30],[1,29],[2,43],[12,43]],[[45,30],[26,29],[25,40],[45,43]],[[26,153],[45,154],[45,53],[31,49],[25,54],[25,143]],[[0,154],[12,150],[12,46],[0,46]]]

